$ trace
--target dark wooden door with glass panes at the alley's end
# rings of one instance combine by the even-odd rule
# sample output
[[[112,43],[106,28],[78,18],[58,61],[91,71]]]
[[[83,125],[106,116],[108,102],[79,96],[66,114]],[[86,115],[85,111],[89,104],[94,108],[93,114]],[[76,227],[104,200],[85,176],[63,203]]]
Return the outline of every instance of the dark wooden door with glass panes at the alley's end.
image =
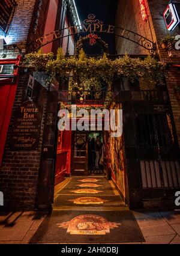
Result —
[[[88,133],[73,133],[71,159],[71,175],[88,175]]]

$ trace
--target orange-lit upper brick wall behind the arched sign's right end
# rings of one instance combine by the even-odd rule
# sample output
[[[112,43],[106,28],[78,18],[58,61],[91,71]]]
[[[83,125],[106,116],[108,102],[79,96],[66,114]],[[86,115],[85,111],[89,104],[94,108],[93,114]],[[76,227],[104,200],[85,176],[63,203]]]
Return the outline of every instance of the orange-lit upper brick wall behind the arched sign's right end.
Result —
[[[145,2],[148,8],[147,1],[145,0]],[[143,37],[155,42],[155,32],[152,26],[151,17],[147,22],[143,21],[139,1],[119,1],[115,25],[136,32],[137,34],[140,34]],[[119,34],[119,32],[120,31],[116,29],[116,34]],[[139,39],[137,35],[133,34],[131,34],[130,37],[135,41]],[[128,53],[130,55],[149,54],[148,50],[121,37],[116,37],[116,52],[118,54]]]

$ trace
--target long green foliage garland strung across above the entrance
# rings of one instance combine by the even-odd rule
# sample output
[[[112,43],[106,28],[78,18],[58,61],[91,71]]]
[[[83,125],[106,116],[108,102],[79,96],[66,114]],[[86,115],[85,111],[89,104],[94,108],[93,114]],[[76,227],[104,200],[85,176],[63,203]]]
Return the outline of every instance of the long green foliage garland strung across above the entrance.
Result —
[[[123,57],[111,60],[104,53],[100,58],[87,58],[85,53],[80,51],[79,58],[71,56],[65,58],[62,50],[59,50],[56,59],[53,59],[53,53],[29,53],[25,56],[23,64],[35,67],[35,70],[42,70],[49,74],[50,78],[68,78],[73,76],[80,83],[91,84],[95,79],[103,81],[107,85],[112,84],[113,78],[121,78],[125,76],[131,81],[137,78],[148,78],[149,81],[155,82],[157,85],[162,84],[165,64],[157,61],[155,58],[148,56],[147,58],[130,58],[125,55]],[[86,82],[85,82],[86,81]]]

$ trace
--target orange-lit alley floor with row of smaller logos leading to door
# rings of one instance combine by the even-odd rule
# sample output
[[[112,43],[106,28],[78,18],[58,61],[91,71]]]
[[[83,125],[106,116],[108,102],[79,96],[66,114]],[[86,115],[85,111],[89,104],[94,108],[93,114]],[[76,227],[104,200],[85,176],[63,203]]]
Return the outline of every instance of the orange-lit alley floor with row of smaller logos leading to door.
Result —
[[[125,206],[112,181],[105,177],[67,178],[55,189],[53,206]]]

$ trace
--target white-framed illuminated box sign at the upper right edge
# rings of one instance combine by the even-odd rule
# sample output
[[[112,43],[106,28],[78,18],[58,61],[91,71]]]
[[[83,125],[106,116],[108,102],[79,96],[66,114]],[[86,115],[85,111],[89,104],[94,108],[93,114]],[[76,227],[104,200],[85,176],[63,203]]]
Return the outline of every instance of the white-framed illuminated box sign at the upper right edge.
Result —
[[[169,31],[172,31],[173,29],[175,29],[175,27],[179,23],[179,16],[176,11],[175,4],[170,2],[170,4],[167,5],[166,10],[163,13],[163,17],[164,17],[164,22],[166,24],[166,28]]]

